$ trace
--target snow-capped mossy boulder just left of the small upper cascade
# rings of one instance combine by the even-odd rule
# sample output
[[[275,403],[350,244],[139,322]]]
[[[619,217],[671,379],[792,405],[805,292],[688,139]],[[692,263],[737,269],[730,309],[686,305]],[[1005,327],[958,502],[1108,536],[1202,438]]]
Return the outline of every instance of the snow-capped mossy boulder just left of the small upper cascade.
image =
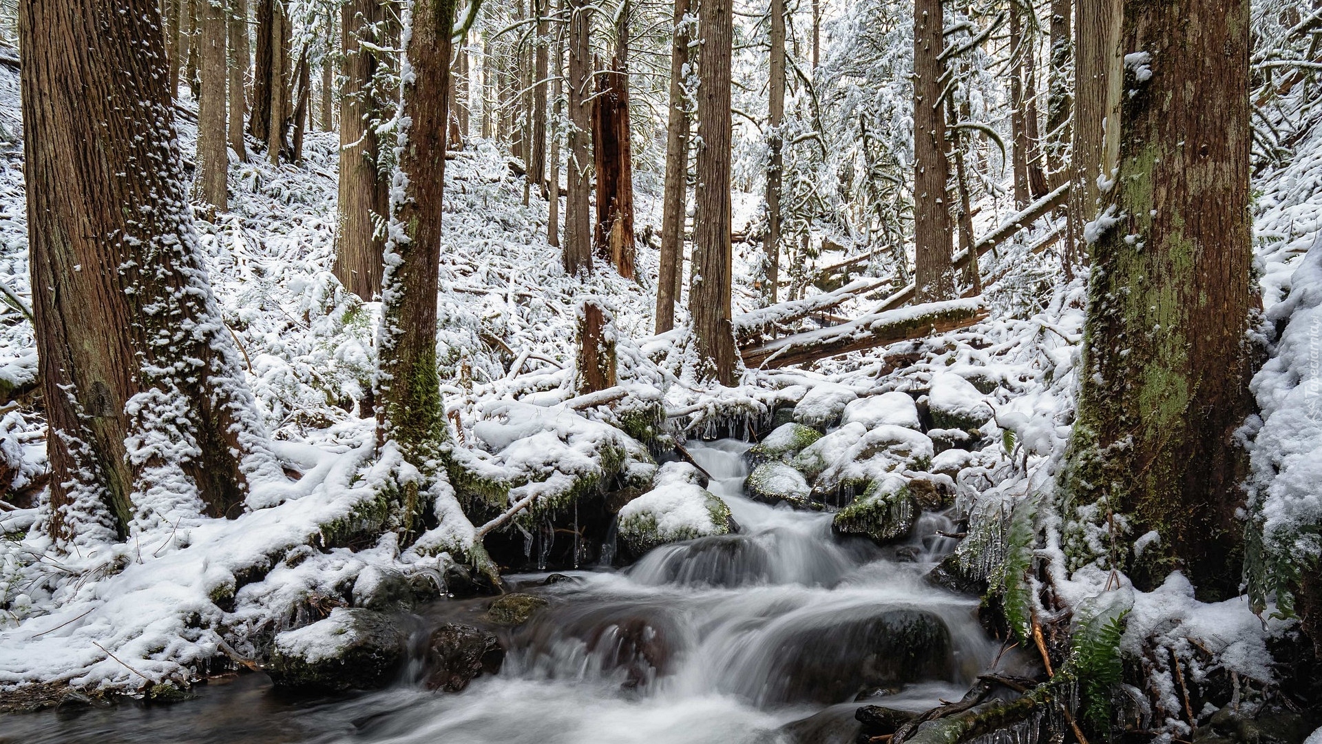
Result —
[[[657,545],[735,530],[730,507],[697,483],[697,470],[686,462],[668,462],[657,471],[652,490],[624,504],[619,536],[635,556]]]

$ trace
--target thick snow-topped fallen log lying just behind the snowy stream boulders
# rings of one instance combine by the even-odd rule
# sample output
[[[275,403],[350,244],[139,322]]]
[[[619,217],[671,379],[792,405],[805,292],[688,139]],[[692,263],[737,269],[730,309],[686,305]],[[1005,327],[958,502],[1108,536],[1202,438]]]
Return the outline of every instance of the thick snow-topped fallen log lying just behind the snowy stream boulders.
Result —
[[[895,342],[919,339],[972,326],[988,316],[981,297],[931,302],[874,312],[841,326],[784,336],[744,349],[746,367],[779,368],[806,364]]]

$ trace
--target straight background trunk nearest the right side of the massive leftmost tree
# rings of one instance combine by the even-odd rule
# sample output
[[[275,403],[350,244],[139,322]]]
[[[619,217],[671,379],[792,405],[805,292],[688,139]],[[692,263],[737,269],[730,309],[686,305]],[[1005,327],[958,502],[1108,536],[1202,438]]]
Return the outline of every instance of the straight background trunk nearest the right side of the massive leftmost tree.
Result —
[[[201,33],[197,37],[201,62],[201,98],[197,101],[197,180],[196,195],[215,212],[229,210],[225,176],[230,159],[225,143],[225,37],[229,23],[221,0],[197,0]]]

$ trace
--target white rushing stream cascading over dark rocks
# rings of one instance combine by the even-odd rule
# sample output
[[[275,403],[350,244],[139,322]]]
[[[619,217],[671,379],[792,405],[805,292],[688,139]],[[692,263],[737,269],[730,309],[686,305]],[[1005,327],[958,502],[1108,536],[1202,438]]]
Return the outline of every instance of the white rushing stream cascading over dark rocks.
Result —
[[[513,631],[505,666],[460,694],[402,680],[385,691],[292,698],[247,674],[172,707],[0,718],[0,741],[771,743],[851,741],[855,699],[925,710],[957,699],[998,646],[977,602],[921,576],[953,548],[925,515],[910,545],[839,540],[830,515],[743,496],[735,441],[694,443],[738,535],[664,545],[621,571],[542,586],[550,606]],[[535,586],[535,589],[526,589]],[[481,601],[436,602],[427,626]],[[420,673],[412,665],[406,676]]]

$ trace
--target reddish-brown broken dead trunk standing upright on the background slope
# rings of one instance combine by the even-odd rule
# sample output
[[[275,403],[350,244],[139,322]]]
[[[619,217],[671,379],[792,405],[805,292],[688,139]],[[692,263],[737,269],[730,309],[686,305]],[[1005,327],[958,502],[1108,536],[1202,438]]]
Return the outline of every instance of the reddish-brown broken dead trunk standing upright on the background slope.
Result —
[[[592,144],[596,156],[596,252],[633,278],[633,152],[629,147],[628,3],[617,16],[615,58],[596,77]]]

